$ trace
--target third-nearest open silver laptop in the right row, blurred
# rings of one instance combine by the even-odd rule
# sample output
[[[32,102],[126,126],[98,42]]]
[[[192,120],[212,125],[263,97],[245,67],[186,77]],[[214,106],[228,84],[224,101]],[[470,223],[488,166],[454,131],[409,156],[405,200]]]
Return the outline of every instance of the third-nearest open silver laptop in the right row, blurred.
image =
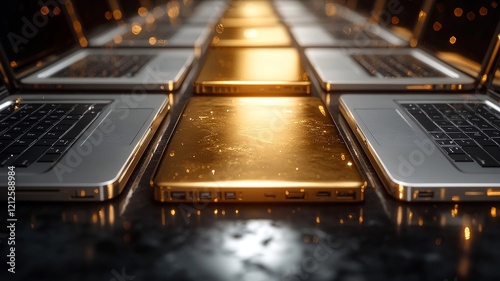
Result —
[[[432,0],[430,0],[432,1]],[[380,2],[380,1],[378,1]],[[301,47],[406,47],[417,33],[416,25],[426,13],[429,0],[384,0],[382,9],[371,12],[364,23],[335,24],[330,22],[290,27]]]

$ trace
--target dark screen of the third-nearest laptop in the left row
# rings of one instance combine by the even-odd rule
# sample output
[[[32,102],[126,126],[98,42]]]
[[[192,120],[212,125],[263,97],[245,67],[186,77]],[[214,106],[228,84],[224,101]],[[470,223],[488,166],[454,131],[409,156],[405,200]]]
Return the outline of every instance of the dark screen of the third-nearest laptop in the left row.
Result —
[[[107,1],[103,0],[73,0],[76,13],[79,15],[85,34],[93,34],[98,29],[116,27],[116,20],[121,14],[113,13]],[[115,20],[116,19],[116,20]]]

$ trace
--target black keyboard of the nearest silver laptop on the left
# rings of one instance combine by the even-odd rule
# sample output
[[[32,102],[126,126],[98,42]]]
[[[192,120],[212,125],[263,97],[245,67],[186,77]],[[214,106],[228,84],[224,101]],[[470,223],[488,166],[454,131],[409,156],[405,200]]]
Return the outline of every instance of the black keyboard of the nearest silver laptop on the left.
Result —
[[[57,161],[106,104],[28,103],[0,111],[0,167]],[[16,108],[18,107],[18,108]]]

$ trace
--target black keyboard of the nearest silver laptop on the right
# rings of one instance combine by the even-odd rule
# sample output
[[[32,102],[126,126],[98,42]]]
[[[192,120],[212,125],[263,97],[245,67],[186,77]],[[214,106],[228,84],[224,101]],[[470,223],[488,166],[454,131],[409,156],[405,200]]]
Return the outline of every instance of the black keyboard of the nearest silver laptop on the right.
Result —
[[[454,162],[500,167],[500,113],[485,104],[404,104]]]

